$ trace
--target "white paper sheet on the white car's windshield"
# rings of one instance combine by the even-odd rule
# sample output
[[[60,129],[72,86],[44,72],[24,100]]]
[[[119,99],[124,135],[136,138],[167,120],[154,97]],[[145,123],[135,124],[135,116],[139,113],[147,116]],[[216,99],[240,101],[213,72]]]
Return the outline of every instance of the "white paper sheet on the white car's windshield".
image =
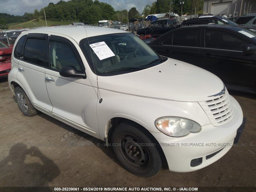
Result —
[[[90,47],[100,60],[115,56],[115,54],[104,41],[90,44]]]

